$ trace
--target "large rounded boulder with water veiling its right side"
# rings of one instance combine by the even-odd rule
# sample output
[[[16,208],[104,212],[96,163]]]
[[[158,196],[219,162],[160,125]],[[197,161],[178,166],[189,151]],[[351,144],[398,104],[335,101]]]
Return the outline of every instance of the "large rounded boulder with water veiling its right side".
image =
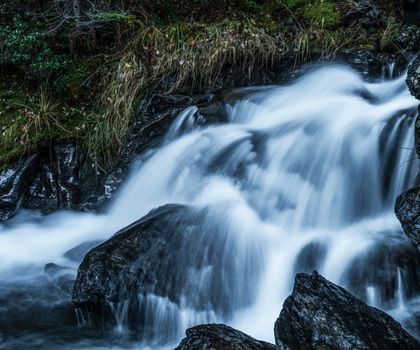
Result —
[[[169,204],[117,232],[84,257],[74,304],[106,316],[110,305],[128,302],[133,317],[142,313],[138,303],[150,298],[225,317],[248,306],[256,288],[249,275],[257,261],[241,263],[237,244],[245,243],[212,215],[210,208]]]

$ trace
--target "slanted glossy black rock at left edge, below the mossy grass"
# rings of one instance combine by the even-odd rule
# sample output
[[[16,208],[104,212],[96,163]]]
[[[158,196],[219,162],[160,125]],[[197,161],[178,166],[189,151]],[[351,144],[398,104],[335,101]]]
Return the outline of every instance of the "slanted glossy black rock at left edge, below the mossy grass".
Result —
[[[36,176],[39,163],[37,154],[0,172],[0,221],[16,214],[23,191]]]

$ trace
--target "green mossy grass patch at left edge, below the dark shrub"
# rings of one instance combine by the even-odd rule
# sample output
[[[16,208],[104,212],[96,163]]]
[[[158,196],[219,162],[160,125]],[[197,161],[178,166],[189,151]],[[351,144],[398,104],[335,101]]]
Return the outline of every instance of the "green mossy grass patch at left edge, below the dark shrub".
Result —
[[[57,102],[45,87],[30,93],[0,85],[0,166],[51,141],[83,138],[86,115]]]

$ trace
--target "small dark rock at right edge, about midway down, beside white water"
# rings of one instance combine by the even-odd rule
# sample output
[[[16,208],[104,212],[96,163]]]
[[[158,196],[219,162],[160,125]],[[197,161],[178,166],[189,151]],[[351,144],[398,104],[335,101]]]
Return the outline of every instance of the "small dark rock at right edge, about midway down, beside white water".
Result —
[[[395,201],[395,214],[404,233],[420,251],[420,187],[399,195]]]

